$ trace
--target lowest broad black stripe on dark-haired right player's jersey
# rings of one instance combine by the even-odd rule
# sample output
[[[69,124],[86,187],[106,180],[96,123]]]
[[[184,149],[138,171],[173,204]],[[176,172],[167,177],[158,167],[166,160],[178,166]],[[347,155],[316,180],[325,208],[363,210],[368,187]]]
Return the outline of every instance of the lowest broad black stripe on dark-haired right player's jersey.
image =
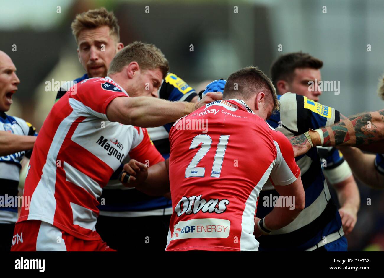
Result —
[[[260,248],[285,250],[292,247],[293,249],[296,249],[296,247],[303,245],[304,243],[313,239],[319,231],[326,227],[329,222],[333,221],[336,211],[337,207],[331,199],[321,215],[308,225],[301,227],[293,232],[285,233],[282,235],[267,235],[258,237],[257,241],[260,242]],[[310,247],[311,246],[308,246],[306,249]]]

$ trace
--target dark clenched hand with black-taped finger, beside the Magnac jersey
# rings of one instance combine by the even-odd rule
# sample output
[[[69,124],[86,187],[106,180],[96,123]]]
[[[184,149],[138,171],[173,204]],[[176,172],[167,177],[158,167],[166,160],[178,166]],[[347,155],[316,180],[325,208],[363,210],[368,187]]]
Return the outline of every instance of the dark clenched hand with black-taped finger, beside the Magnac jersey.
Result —
[[[148,167],[141,162],[131,159],[124,164],[124,171],[119,176],[120,182],[126,187],[137,187],[148,177]]]

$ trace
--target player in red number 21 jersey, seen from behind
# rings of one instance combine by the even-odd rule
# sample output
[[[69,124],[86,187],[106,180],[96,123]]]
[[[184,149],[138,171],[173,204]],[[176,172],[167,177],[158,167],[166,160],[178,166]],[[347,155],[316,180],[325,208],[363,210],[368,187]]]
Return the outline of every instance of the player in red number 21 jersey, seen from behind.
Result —
[[[258,251],[255,236],[288,225],[304,208],[300,169],[289,141],[265,122],[278,107],[270,79],[257,68],[240,69],[229,76],[223,99],[174,124],[169,161],[148,171],[136,161],[124,165],[132,176],[123,173],[123,182],[141,182],[137,188],[143,192],[161,193],[170,186],[174,211],[166,251]],[[205,121],[207,132],[184,128],[196,121]],[[164,179],[168,167],[169,181]],[[294,205],[276,207],[255,222],[259,193],[269,176],[281,197],[293,198]]]

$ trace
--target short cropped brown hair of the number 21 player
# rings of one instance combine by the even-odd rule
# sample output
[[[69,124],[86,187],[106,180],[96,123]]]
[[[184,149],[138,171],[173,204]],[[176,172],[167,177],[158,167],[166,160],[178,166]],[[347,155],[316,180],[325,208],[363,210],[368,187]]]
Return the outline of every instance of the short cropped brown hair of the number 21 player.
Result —
[[[223,99],[241,98],[248,100],[255,93],[264,92],[266,99],[273,101],[273,112],[279,110],[276,89],[263,71],[247,66],[232,73],[225,83]]]

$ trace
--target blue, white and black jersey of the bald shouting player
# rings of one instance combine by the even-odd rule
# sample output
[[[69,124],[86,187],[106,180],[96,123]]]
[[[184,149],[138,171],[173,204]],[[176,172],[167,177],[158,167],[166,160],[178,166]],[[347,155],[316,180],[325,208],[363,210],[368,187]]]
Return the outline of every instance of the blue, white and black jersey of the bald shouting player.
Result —
[[[0,111],[0,131],[17,135],[37,136],[36,129],[29,122],[12,117]],[[30,158],[30,151],[21,151],[0,157],[0,223],[16,223],[20,170],[23,157]]]

